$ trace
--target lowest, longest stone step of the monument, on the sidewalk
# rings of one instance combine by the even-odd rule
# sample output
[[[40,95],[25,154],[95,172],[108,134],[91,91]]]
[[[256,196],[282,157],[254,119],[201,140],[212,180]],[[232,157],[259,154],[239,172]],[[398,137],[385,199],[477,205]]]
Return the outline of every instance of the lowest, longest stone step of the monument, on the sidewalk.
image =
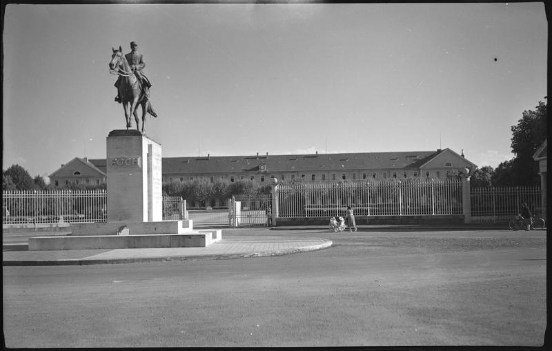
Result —
[[[213,238],[213,232],[216,237]],[[123,248],[206,248],[221,239],[221,230],[186,234],[80,235],[29,238],[29,250],[90,250]]]

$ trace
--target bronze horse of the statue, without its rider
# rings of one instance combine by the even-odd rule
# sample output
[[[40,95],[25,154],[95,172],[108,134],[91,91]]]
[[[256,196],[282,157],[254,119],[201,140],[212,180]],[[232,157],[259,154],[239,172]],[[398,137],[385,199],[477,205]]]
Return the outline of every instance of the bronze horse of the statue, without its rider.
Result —
[[[111,55],[111,61],[109,63],[109,72],[111,74],[117,74],[121,76],[121,83],[119,84],[119,97],[121,97],[123,108],[125,111],[126,129],[132,128],[130,116],[134,116],[136,121],[136,129],[139,128],[139,119],[137,113],[137,106],[142,108],[142,129],[144,132],[144,125],[146,124],[146,113],[149,113],[153,117],[157,117],[157,114],[153,110],[150,100],[144,94],[141,83],[136,77],[136,74],[130,69],[130,64],[123,54],[123,49],[119,46],[119,50],[112,48],[113,54]]]

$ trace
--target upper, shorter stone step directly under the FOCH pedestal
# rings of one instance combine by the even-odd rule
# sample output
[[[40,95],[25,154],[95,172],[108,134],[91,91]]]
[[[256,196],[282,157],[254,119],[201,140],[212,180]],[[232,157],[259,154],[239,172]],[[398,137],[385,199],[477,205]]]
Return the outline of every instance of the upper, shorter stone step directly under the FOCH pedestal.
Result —
[[[130,235],[142,234],[186,234],[193,232],[193,220],[157,222],[109,222],[109,223],[71,223],[73,236],[117,235],[124,230]],[[128,231],[126,230],[128,229]]]

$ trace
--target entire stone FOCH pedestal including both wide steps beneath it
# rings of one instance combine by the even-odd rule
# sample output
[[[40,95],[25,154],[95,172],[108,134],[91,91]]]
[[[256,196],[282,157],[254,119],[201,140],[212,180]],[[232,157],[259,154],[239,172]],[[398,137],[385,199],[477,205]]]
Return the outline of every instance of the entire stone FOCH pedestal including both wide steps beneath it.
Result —
[[[73,223],[67,237],[29,239],[29,250],[206,247],[221,230],[163,221],[161,145],[137,130],[107,137],[107,223]],[[184,208],[182,209],[184,212]]]

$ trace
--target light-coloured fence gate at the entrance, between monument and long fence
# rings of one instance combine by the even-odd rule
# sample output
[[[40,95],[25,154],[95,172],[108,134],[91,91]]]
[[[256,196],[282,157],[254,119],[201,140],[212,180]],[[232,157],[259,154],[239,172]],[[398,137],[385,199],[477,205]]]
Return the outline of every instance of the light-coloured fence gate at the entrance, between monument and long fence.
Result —
[[[268,225],[266,208],[271,194],[236,194],[228,201],[230,227],[264,227]]]

